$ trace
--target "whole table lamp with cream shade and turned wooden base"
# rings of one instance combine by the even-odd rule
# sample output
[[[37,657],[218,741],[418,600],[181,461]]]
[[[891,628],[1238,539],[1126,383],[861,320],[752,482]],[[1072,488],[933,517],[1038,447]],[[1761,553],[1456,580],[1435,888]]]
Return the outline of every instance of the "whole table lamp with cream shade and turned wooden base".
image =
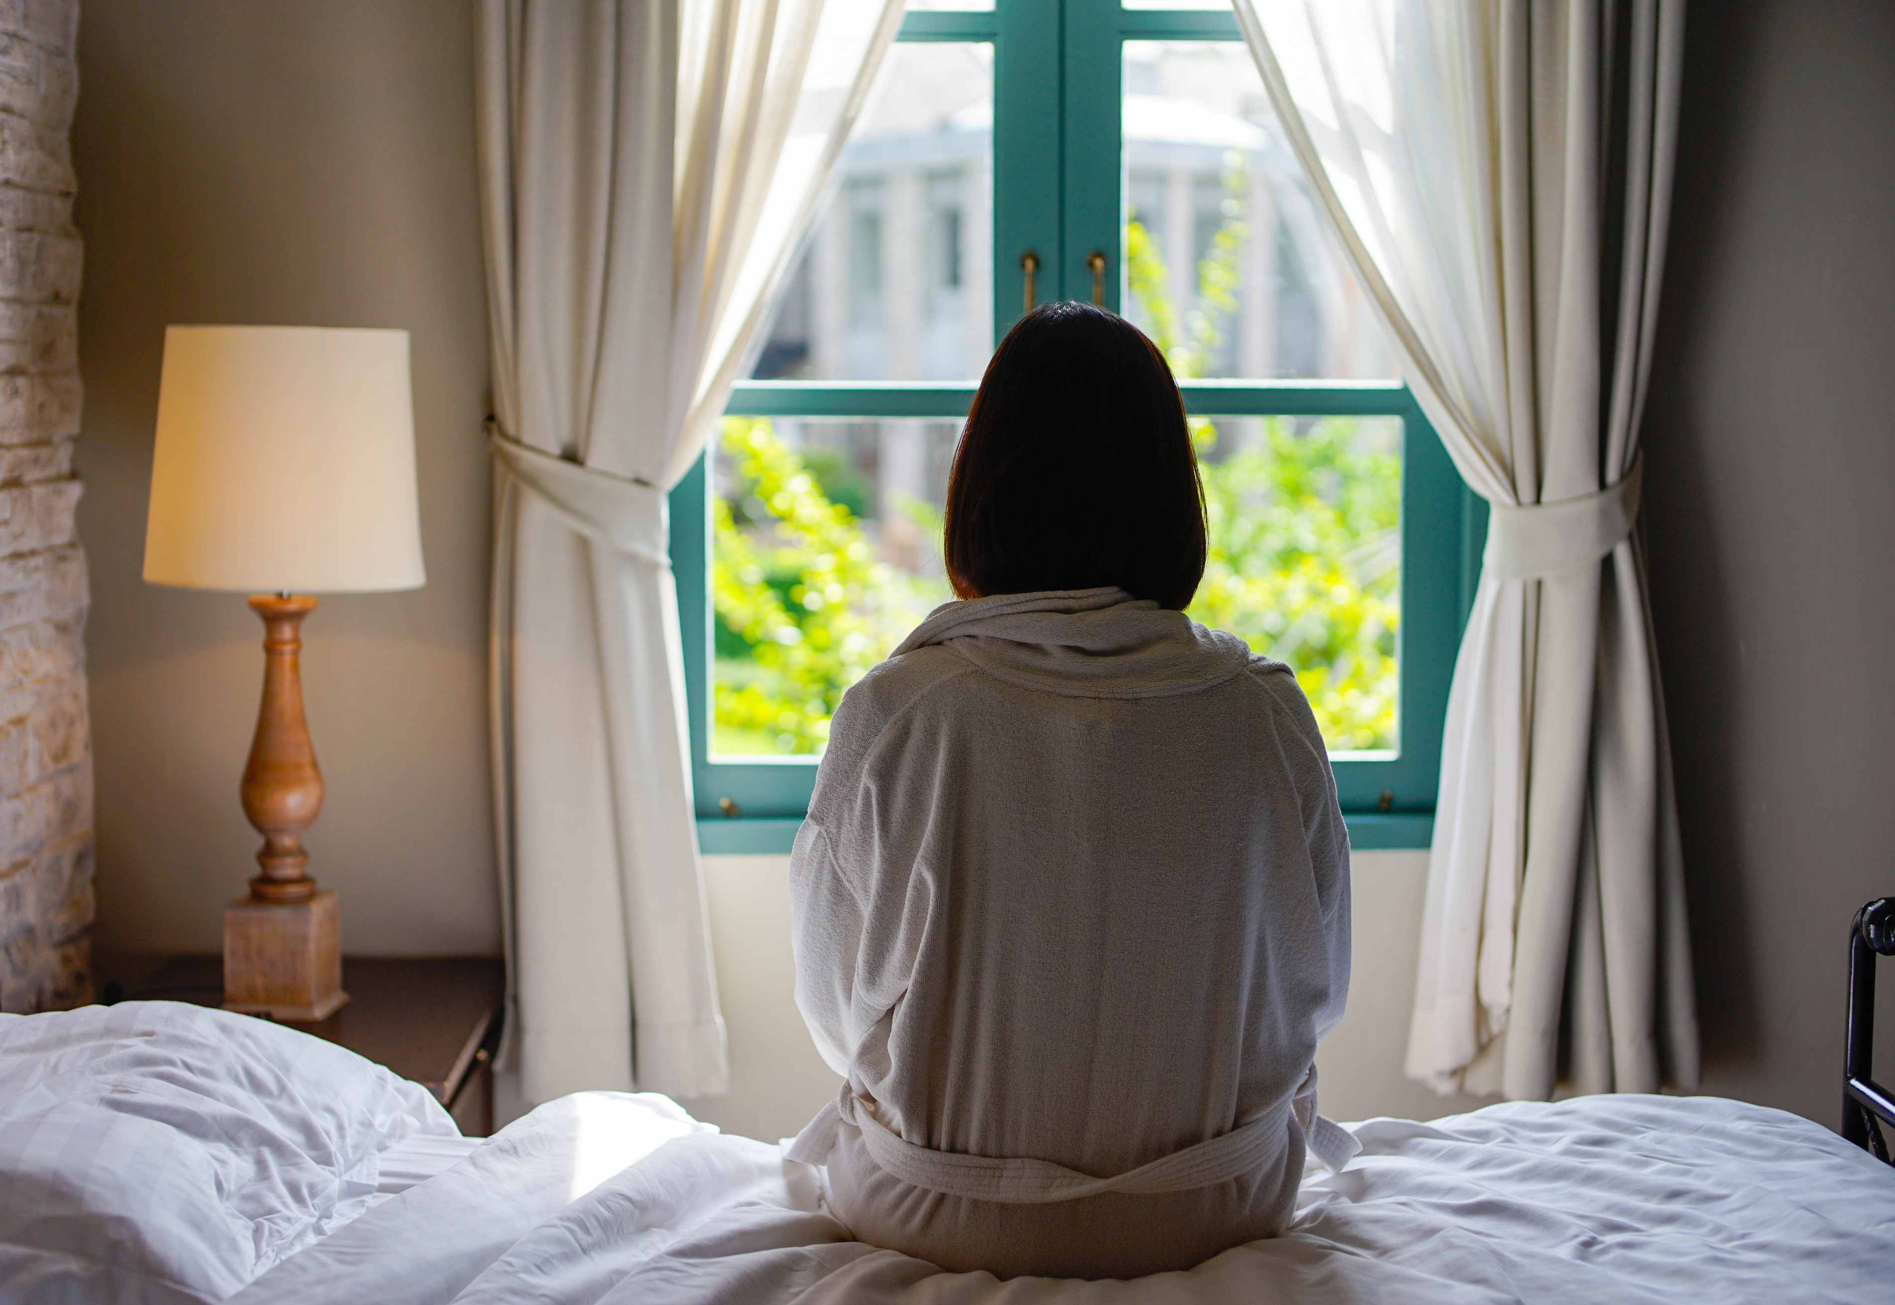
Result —
[[[407,331],[167,328],[144,578],[250,593],[263,617],[263,706],[241,788],[262,873],[224,909],[224,1006],[328,1019],[349,994],[341,905],[305,873],[322,771],[299,633],[309,595],[424,581]]]

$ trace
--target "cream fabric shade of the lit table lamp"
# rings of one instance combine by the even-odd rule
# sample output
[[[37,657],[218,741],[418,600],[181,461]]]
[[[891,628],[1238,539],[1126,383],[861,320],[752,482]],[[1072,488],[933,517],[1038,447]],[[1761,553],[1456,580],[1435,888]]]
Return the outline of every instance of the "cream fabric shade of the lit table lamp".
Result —
[[[424,583],[407,331],[167,328],[144,578],[248,593]]]

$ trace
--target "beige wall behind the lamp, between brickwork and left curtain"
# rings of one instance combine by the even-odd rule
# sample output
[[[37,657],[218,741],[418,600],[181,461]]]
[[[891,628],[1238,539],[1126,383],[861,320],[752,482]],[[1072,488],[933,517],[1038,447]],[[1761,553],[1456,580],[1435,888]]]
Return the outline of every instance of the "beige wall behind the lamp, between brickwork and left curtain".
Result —
[[[311,873],[360,953],[498,949],[489,828],[487,303],[466,0],[85,0],[80,530],[112,951],[220,945],[262,684],[241,595],[138,580],[169,322],[413,333],[428,585],[330,597],[303,676]]]

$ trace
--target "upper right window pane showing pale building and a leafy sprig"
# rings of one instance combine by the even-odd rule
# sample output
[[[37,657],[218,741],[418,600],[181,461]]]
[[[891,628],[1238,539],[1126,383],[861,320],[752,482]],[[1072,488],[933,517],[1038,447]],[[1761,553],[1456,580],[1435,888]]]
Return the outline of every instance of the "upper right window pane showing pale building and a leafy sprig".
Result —
[[[1395,379],[1241,42],[1126,42],[1126,314],[1181,377]]]

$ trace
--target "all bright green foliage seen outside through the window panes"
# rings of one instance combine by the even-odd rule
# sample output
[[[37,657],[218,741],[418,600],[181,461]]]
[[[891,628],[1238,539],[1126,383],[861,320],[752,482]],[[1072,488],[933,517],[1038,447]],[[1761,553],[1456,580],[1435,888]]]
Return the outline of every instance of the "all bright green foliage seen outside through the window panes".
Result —
[[[1226,169],[1224,223],[1179,313],[1143,223],[1126,225],[1126,280],[1181,379],[1205,375],[1237,309],[1247,176]],[[1254,420],[1254,419],[1253,419]],[[1268,419],[1226,439],[1192,420],[1209,557],[1188,616],[1287,661],[1330,752],[1395,746],[1400,453],[1387,419]],[[944,602],[940,578],[877,561],[864,494],[822,451],[800,455],[767,419],[730,417],[720,449],[737,489],[713,504],[714,750],[813,754],[855,684]],[[1226,447],[1236,445],[1236,447]],[[883,504],[940,547],[929,504]]]

